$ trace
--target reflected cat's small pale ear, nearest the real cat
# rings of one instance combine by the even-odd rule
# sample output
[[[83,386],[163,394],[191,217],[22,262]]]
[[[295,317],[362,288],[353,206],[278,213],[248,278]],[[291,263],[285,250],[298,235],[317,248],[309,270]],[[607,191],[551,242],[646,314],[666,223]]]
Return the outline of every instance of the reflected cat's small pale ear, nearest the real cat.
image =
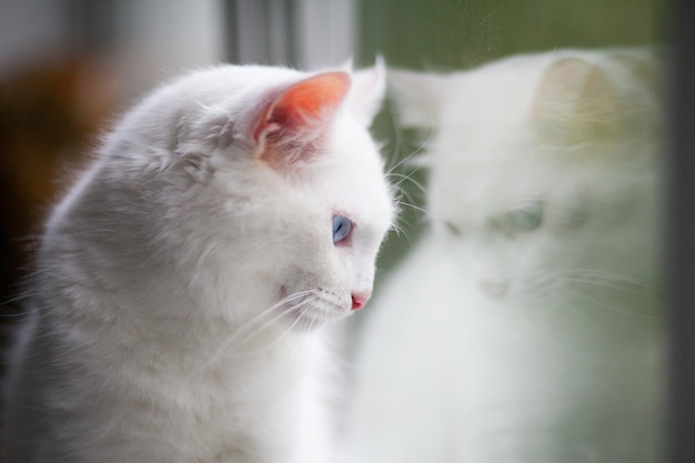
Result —
[[[444,74],[389,71],[389,87],[399,122],[406,128],[434,128],[440,107],[446,98],[447,82],[449,78]]]

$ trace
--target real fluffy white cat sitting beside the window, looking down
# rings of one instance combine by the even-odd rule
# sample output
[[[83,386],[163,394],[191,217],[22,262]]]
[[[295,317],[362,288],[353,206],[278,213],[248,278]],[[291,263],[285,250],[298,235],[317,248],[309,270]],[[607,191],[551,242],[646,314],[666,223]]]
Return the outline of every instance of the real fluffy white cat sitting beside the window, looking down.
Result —
[[[52,212],[8,463],[326,462],[320,325],[364,305],[394,214],[382,64],[164,85]]]

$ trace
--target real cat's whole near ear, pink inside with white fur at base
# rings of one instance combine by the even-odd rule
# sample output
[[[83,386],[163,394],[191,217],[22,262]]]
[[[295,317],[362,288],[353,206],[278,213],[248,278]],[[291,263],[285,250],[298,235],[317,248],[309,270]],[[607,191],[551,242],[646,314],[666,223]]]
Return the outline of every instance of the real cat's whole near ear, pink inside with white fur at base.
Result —
[[[349,90],[345,72],[323,72],[282,90],[252,128],[259,158],[273,167],[309,160]]]

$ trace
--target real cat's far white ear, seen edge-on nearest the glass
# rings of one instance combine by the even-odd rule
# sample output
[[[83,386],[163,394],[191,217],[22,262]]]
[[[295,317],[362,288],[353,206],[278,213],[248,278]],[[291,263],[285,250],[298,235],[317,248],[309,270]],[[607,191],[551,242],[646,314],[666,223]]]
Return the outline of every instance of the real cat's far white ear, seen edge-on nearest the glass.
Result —
[[[352,67],[352,60],[345,66]],[[386,93],[386,66],[381,56],[372,68],[352,73],[352,89],[348,107],[364,125],[369,127],[381,110]]]

